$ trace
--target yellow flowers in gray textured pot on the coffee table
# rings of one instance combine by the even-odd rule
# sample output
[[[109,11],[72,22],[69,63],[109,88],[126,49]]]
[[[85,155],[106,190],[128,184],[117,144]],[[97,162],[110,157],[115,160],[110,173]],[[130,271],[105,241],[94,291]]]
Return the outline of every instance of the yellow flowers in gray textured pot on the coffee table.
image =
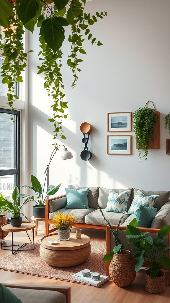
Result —
[[[52,218],[53,226],[58,229],[58,240],[67,241],[70,239],[70,228],[74,227],[74,215],[63,214],[58,211]]]

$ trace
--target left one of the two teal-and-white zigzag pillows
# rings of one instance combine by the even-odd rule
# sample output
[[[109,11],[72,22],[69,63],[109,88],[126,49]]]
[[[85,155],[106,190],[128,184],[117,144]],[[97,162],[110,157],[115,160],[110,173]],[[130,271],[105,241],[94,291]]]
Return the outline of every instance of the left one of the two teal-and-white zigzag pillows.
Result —
[[[114,211],[122,214],[127,214],[127,201],[131,194],[131,190],[117,193],[113,189],[109,190],[109,196],[107,201],[107,207],[104,211]]]

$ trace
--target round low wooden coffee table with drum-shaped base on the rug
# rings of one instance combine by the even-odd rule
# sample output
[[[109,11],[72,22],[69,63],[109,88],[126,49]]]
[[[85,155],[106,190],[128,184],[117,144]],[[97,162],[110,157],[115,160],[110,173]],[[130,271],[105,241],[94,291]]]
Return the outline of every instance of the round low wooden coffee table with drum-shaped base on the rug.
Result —
[[[53,240],[59,244],[48,243]],[[68,241],[58,240],[57,234],[47,235],[41,239],[40,256],[52,266],[69,267],[81,264],[87,260],[90,253],[90,238],[86,235],[81,235],[81,239],[77,239],[75,233],[70,233]]]

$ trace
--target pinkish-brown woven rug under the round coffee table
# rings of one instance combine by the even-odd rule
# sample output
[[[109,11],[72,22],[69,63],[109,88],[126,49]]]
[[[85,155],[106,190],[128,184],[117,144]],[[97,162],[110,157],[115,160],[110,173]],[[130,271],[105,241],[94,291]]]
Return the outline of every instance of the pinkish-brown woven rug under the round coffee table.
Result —
[[[29,248],[30,244],[27,245]],[[106,275],[106,262],[101,261],[106,254],[106,242],[91,241],[90,257],[80,265],[72,267],[54,267],[44,262],[39,253],[40,240],[35,241],[35,249],[32,251],[18,251],[15,255],[8,255],[0,259],[0,269],[14,271],[27,275],[52,278],[62,281],[85,284],[74,280],[72,275],[82,269],[90,269]]]

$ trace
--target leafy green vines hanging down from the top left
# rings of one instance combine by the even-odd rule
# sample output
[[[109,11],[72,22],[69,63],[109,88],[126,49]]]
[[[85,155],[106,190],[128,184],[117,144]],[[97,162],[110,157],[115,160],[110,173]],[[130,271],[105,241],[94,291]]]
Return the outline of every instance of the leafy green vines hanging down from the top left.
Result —
[[[5,57],[2,64],[2,83],[8,85],[8,105],[14,110],[15,83],[23,82],[21,73],[27,66],[28,53],[24,50],[23,35],[25,28],[34,33],[35,25],[40,27],[40,52],[38,74],[44,73],[44,88],[48,96],[53,98],[53,117],[48,121],[54,124],[55,148],[56,137],[59,133],[62,139],[66,139],[62,131],[62,119],[67,118],[65,109],[67,102],[63,101],[64,84],[61,74],[62,43],[65,39],[65,26],[70,26],[68,41],[71,43],[71,51],[67,60],[73,72],[74,88],[78,80],[77,73],[82,58],[78,54],[87,55],[83,49],[85,38],[92,44],[102,45],[100,41],[90,33],[89,26],[103,19],[107,12],[96,12],[96,15],[84,13],[86,0],[0,0],[0,48]],[[30,50],[31,52],[31,50]]]

